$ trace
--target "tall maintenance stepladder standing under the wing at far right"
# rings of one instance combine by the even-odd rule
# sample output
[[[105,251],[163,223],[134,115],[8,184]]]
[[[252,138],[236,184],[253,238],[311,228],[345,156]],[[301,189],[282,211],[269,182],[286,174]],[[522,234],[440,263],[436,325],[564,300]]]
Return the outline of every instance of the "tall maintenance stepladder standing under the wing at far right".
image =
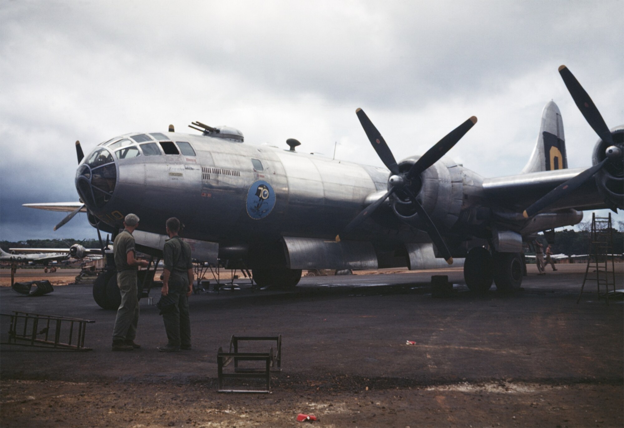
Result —
[[[589,255],[587,257],[587,268],[585,268],[585,278],[581,292],[578,294],[577,303],[583,294],[585,283],[596,281],[598,299],[601,298],[600,286],[605,287],[605,302],[609,304],[609,286],[613,286],[615,292],[615,261],[613,260],[613,227],[611,213],[608,217],[597,217],[592,213],[592,231],[590,233]],[[596,276],[590,276],[590,265],[595,268]]]

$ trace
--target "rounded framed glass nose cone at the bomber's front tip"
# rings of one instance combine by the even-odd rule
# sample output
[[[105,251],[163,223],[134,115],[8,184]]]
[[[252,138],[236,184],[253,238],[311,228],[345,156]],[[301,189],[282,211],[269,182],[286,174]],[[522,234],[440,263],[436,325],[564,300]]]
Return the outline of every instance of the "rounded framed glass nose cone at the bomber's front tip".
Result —
[[[116,184],[117,166],[105,148],[94,150],[76,172],[76,190],[90,211],[109,202]]]

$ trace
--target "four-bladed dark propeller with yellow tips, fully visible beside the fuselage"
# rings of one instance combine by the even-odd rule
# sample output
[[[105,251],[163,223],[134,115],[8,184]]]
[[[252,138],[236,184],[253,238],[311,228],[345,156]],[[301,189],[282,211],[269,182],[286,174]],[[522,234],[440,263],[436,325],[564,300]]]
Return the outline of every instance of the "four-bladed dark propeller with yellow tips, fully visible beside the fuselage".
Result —
[[[375,125],[373,125],[373,122],[371,122],[366,113],[364,113],[364,110],[357,109],[356,115],[358,115],[359,122],[362,124],[364,132],[366,132],[366,136],[370,140],[371,145],[373,145],[375,152],[377,152],[379,158],[381,158],[381,162],[383,162],[384,165],[386,165],[386,167],[390,170],[390,188],[381,198],[364,208],[362,212],[351,220],[351,222],[346,225],[344,230],[339,233],[339,235],[336,235],[336,241],[340,241],[340,235],[347,236],[356,227],[361,225],[361,223],[371,216],[371,214],[373,214],[375,210],[379,208],[379,206],[386,199],[388,199],[390,195],[392,195],[392,193],[402,192],[414,204],[419,218],[421,218],[426,225],[427,234],[436,245],[439,253],[441,253],[441,255],[444,256],[444,260],[451,265],[451,263],[453,263],[451,251],[449,251],[444,243],[442,235],[440,235],[436,225],[434,225],[421,203],[418,202],[416,196],[414,196],[414,193],[410,190],[409,184],[413,178],[419,176],[422,172],[424,172],[424,170],[431,167],[431,165],[436,163],[442,158],[442,156],[451,150],[451,148],[466,134],[466,132],[468,132],[470,128],[477,123],[477,118],[472,116],[470,119],[466,120],[466,122],[459,125],[459,127],[449,132],[446,137],[442,138],[433,147],[429,148],[429,150],[427,150],[427,152],[424,153],[424,155],[422,155],[422,157],[419,158],[414,165],[412,165],[407,173],[402,173],[399,171],[399,165],[397,165],[394,155],[392,155],[392,151],[388,147],[386,140],[384,140],[379,130],[375,127]]]

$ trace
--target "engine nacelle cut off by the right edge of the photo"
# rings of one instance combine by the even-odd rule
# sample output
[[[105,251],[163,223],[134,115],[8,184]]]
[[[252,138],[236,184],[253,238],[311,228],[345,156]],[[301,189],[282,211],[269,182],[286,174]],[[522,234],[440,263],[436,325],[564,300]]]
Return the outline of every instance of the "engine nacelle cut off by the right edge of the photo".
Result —
[[[598,192],[612,210],[624,209],[624,125],[611,129],[615,147],[610,149],[610,143],[598,140],[593,148],[592,163],[596,165],[607,156],[610,160],[599,170],[595,177]]]

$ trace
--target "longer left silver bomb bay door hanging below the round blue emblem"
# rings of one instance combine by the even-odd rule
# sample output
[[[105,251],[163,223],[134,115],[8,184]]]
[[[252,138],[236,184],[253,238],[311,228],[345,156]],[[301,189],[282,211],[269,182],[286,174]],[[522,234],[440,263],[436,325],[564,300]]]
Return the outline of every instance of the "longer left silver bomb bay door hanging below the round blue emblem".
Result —
[[[376,269],[373,244],[364,241],[284,237],[290,269]]]

